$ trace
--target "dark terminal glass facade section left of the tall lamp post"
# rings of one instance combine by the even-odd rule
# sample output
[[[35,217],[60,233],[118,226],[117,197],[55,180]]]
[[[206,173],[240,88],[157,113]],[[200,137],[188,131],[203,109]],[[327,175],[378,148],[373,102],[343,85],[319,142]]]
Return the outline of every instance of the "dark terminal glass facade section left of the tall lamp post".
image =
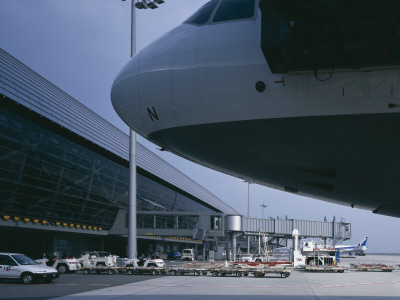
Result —
[[[110,228],[128,170],[0,107],[0,213]]]

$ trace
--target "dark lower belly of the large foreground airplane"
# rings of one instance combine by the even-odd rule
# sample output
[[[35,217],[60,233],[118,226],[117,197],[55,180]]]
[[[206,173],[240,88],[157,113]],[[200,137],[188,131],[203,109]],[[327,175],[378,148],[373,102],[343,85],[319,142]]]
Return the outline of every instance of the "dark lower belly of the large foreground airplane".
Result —
[[[149,138],[252,182],[400,216],[398,128],[398,113],[310,116],[181,126]]]

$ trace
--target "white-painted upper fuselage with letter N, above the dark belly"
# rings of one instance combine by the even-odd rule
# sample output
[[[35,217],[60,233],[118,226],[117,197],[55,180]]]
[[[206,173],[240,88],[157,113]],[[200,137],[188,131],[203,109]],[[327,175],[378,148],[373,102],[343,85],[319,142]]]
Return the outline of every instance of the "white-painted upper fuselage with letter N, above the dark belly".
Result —
[[[400,94],[398,70],[339,73],[327,81],[314,74],[272,74],[260,47],[260,22],[257,9],[251,20],[178,26],[119,74],[115,109],[145,137],[207,123],[399,110],[388,107]],[[262,93],[255,89],[258,81],[266,84]]]

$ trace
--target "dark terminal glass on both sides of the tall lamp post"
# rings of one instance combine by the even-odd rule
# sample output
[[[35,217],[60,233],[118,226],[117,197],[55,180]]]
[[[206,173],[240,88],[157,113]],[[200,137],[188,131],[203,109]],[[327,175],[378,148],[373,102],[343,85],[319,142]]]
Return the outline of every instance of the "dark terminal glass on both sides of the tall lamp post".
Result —
[[[1,101],[0,213],[111,228],[127,208],[128,163],[99,154],[91,142],[10,99]],[[138,211],[215,211],[141,169],[137,185]]]

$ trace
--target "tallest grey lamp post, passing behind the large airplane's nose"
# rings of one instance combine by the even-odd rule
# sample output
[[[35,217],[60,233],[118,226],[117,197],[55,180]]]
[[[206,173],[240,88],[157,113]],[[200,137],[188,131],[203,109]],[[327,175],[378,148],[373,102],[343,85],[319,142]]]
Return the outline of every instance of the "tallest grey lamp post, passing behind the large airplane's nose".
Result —
[[[125,0],[122,0],[125,1]],[[131,57],[136,54],[136,11],[135,9],[155,9],[157,4],[164,0],[132,0],[131,5]],[[128,258],[137,255],[137,228],[136,228],[136,132],[129,129],[129,203],[128,203]]]

